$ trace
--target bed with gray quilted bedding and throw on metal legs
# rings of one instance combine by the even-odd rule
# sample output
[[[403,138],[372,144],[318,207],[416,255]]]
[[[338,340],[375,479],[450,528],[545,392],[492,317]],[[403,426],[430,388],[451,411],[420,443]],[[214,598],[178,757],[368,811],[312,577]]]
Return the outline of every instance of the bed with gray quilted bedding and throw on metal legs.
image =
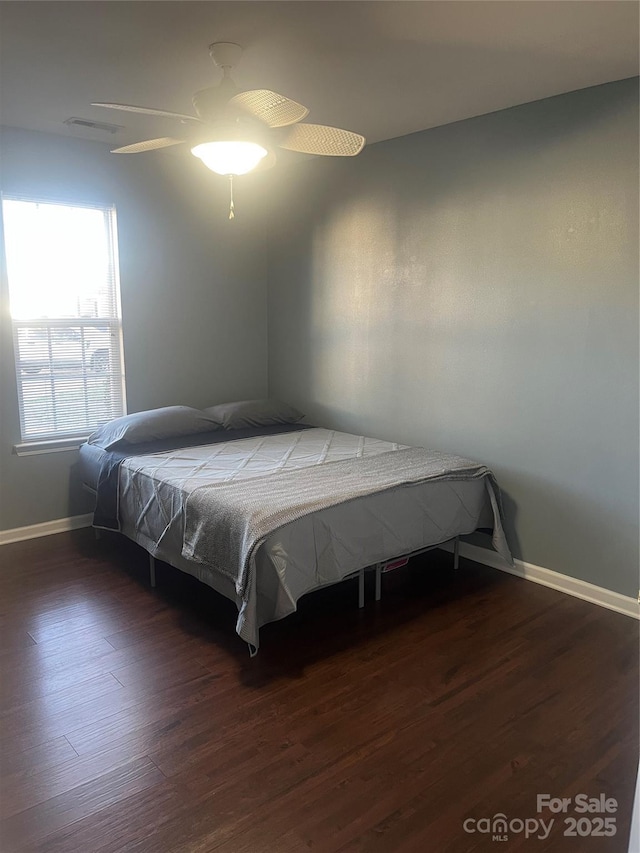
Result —
[[[257,403],[273,408],[247,402],[252,413]],[[143,430],[137,443],[107,427],[119,438],[81,447],[82,478],[96,494],[94,526],[120,531],[233,600],[252,654],[261,626],[367,567],[379,573],[479,528],[493,531],[511,562],[498,486],[484,465],[301,424],[299,413],[282,421],[225,417],[224,406],[203,412],[206,424],[151,438]]]

